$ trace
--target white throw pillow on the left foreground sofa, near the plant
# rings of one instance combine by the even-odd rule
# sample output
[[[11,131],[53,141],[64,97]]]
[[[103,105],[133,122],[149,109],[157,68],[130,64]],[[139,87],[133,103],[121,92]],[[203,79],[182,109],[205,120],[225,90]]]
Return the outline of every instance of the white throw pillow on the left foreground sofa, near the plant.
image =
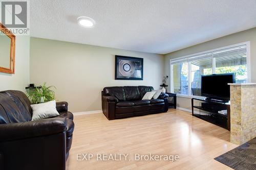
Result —
[[[59,115],[56,109],[56,101],[31,105],[31,108],[33,111],[31,120],[39,120]]]

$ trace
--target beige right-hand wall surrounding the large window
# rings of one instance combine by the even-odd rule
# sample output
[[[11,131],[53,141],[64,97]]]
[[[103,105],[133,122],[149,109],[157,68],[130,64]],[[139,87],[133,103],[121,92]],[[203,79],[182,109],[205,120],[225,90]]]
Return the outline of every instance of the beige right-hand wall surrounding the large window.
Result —
[[[198,45],[190,46],[182,50],[164,55],[164,72],[169,75],[169,60],[177,57],[183,57],[195,53],[200,53],[215,48],[220,48],[232,44],[250,41],[250,65],[251,65],[251,82],[256,82],[256,28],[231,34],[225,37],[207,41]],[[169,82],[168,82],[169,84]],[[190,109],[191,100],[188,98],[177,98],[177,106]]]

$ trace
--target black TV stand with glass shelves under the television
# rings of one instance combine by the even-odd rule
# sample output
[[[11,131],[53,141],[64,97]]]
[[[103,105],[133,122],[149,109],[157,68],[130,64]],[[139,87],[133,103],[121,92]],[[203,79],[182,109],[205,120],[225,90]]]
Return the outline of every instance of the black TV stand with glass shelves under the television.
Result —
[[[198,101],[195,106],[195,102]],[[191,99],[192,115],[230,131],[230,103],[215,99]],[[199,109],[199,111],[194,111]],[[222,114],[222,113],[225,114]]]

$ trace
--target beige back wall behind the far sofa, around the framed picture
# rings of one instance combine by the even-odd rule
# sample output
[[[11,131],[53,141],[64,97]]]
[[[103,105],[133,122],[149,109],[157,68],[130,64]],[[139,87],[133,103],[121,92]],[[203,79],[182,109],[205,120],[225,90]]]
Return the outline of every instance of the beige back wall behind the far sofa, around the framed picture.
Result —
[[[30,42],[30,83],[54,85],[56,100],[69,102],[73,112],[101,110],[101,90],[105,86],[160,88],[162,55],[34,37]],[[115,80],[115,55],[143,58],[143,81]]]

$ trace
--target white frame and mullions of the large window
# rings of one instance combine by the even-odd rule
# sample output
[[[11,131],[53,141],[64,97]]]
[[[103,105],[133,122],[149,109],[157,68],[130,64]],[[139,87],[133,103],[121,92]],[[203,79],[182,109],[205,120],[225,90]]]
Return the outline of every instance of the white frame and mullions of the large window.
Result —
[[[191,55],[187,55],[187,56],[183,56],[183,57],[178,57],[175,59],[170,59],[169,61],[169,66],[170,66],[170,79],[169,79],[169,83],[170,83],[170,92],[174,92],[174,84],[173,84],[173,65],[172,62],[179,62],[179,61],[184,61],[187,60],[188,63],[188,94],[177,94],[177,96],[180,97],[184,97],[184,98],[204,98],[204,96],[195,96],[191,94],[191,80],[190,80],[190,75],[191,75],[191,61],[188,61],[189,58],[193,58],[195,56],[201,56],[201,55],[205,55],[208,53],[214,53],[216,51],[221,51],[221,50],[225,50],[227,48],[233,48],[236,46],[242,46],[242,45],[246,45],[246,66],[247,66],[247,83],[250,83],[251,81],[251,65],[250,65],[250,41],[247,42],[242,42],[242,43],[238,43],[238,44],[233,44],[233,45],[229,45],[229,46],[224,46],[224,47],[220,47],[220,48],[215,48],[212,50],[208,50],[208,51],[204,51],[204,52],[200,52],[200,53],[196,53],[196,54],[191,54]],[[212,57],[212,74],[215,74],[215,69],[216,69],[216,58]]]

